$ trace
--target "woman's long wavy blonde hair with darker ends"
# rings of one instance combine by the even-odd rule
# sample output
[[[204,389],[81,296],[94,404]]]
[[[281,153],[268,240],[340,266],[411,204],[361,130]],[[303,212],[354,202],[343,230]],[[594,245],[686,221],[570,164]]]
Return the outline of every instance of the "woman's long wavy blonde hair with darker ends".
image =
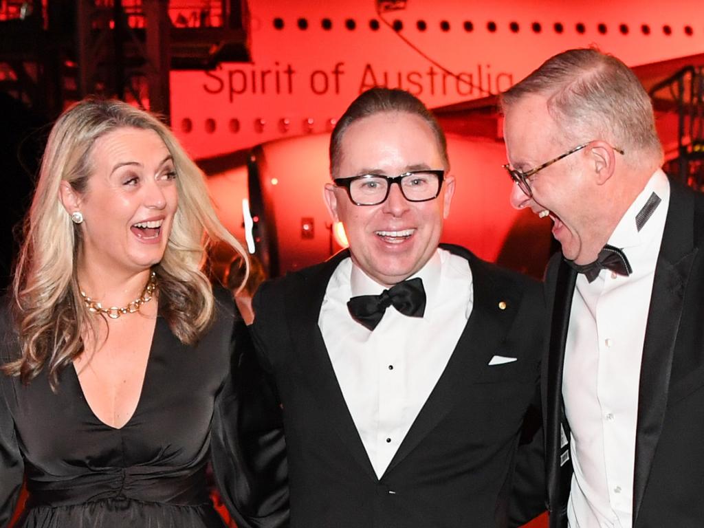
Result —
[[[76,103],[49,134],[15,266],[11,313],[20,351],[3,370],[23,383],[47,368],[56,390],[61,370],[84,351],[85,332],[95,334],[100,322],[80,296],[76,258],[81,231],[63,207],[59,188],[66,181],[83,193],[93,172],[96,139],[121,128],[153,130],[173,156],[178,208],[164,256],[153,271],[159,313],[180,341],[194,344],[213,320],[213,291],[201,269],[210,244],[225,241],[246,259],[241,244],[215,215],[203,173],[168,127],[122,101],[89,98]]]

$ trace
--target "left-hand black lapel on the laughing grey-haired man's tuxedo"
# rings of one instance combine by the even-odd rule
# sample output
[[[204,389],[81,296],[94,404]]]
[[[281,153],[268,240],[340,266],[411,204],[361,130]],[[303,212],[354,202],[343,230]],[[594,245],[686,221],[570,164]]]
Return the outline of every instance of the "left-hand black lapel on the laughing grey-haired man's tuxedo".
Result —
[[[555,258],[558,258],[559,262],[556,264],[558,271],[553,296],[550,347],[547,365],[543,366],[543,378],[546,379],[543,383],[543,398],[546,398],[543,402],[543,411],[546,412],[546,472],[551,509],[562,508],[562,505],[567,503],[572,479],[572,461],[565,460],[562,463],[562,460],[570,457],[569,436],[567,436],[567,445],[562,446],[560,426],[567,429],[565,434],[569,434],[562,403],[562,370],[565,362],[567,329],[572,311],[572,296],[577,282],[577,271],[567,265],[562,254]]]

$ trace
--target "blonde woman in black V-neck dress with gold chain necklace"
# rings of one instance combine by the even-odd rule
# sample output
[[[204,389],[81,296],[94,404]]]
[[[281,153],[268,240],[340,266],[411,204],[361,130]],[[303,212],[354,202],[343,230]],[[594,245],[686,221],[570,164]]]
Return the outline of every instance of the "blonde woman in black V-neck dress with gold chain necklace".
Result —
[[[23,476],[20,527],[223,526],[205,468],[211,432],[233,437],[239,316],[201,272],[213,239],[244,255],[161,122],[96,99],[61,115],[0,319],[0,527]]]

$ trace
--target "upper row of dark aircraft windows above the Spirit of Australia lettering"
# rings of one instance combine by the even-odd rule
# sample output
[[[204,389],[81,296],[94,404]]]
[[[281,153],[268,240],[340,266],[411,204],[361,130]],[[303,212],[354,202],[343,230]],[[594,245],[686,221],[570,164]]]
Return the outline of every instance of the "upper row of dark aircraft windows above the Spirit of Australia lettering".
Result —
[[[275,29],[277,29],[277,30],[283,30],[284,27],[286,27],[286,24],[284,23],[284,19],[280,18],[280,17],[277,17],[273,20],[273,25],[274,25]],[[298,18],[298,20],[296,20],[296,26],[298,27],[299,30],[307,30],[308,27],[310,27],[310,22],[309,22],[308,18]],[[448,22],[448,20],[441,20],[438,26],[442,32],[448,32],[451,30],[451,25]],[[320,20],[320,27],[322,27],[322,29],[324,29],[326,31],[332,30],[332,27],[333,27],[332,20],[329,18],[322,18],[322,20]],[[346,27],[346,29],[349,31],[354,31],[357,29],[357,22],[353,18],[347,18],[344,21],[344,27]],[[369,21],[370,30],[377,31],[377,30],[379,30],[380,27],[381,27],[381,24],[379,23],[379,20],[377,20],[376,18],[372,18]],[[396,19],[391,23],[391,27],[393,27],[395,31],[403,31],[403,27],[404,27],[403,21]],[[472,23],[471,20],[465,20],[462,23],[461,27],[463,27],[463,30],[465,30],[465,32],[467,32],[467,33],[474,31],[474,23]],[[420,32],[425,32],[429,29],[429,25],[425,20],[417,20],[417,22],[415,23],[415,28]],[[510,32],[518,33],[521,30],[521,26],[519,23],[513,21],[508,24],[508,29],[510,30]],[[534,22],[534,23],[530,24],[530,29],[534,33],[540,33],[543,31],[543,25],[539,22]],[[494,20],[489,20],[489,22],[486,23],[486,30],[488,30],[490,33],[495,33],[496,31],[498,31],[498,25],[496,24],[496,22],[494,22]],[[584,23],[578,22],[574,25],[574,30],[579,34],[584,34],[584,33],[586,33],[587,28],[586,28],[586,25],[584,25]],[[555,23],[553,23],[553,31],[555,33],[560,33],[560,34],[564,33],[565,32],[565,25],[561,22],[555,22]],[[608,33],[608,25],[606,25],[605,23],[599,23],[596,26],[596,31],[599,34],[607,34]],[[626,35],[626,34],[629,34],[630,27],[628,24],[620,24],[620,25],[618,25],[618,31],[621,34]],[[688,37],[691,37],[694,34],[694,30],[693,30],[693,27],[691,27],[691,25],[684,26],[683,31],[684,31],[684,34],[686,34]],[[670,36],[672,34],[672,32],[673,32],[672,26],[670,26],[668,24],[662,25],[662,33],[663,34]],[[649,35],[651,33],[650,25],[642,24],[641,25],[641,33],[644,35]]]

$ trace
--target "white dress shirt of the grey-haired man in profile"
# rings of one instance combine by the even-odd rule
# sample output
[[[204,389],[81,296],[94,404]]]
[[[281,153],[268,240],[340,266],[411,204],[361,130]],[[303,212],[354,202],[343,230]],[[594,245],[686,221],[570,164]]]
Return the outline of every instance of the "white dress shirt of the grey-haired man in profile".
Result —
[[[661,201],[640,232],[636,214]],[[579,275],[565,348],[562,397],[572,431],[571,528],[631,528],[639,378],[655,264],[670,202],[662,170],[624,214],[608,243],[626,254],[628,277]]]

